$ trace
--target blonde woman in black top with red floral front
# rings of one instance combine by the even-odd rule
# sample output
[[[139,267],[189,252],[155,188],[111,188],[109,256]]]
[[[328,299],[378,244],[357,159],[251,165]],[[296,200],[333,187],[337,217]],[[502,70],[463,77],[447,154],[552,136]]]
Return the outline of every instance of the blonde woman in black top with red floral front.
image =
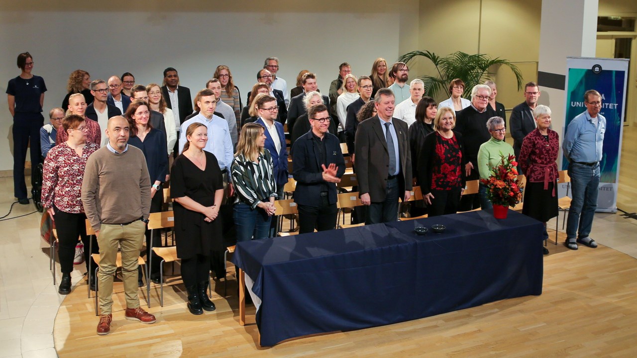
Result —
[[[438,108],[434,132],[427,134],[418,157],[420,190],[430,217],[454,214],[460,204],[466,176],[462,135],[452,131],[455,111]]]

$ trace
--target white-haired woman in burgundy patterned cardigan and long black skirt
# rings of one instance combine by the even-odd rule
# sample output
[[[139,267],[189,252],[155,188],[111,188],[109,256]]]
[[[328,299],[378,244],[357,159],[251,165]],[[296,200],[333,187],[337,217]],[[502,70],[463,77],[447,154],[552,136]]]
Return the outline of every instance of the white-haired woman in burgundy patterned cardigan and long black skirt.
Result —
[[[537,106],[533,111],[537,123],[522,142],[518,158],[522,171],[526,174],[526,190],[522,213],[544,223],[544,238],[548,238],[546,226],[550,218],[557,216],[557,154],[559,136],[550,129],[551,110],[547,106]],[[544,248],[544,254],[548,254]]]

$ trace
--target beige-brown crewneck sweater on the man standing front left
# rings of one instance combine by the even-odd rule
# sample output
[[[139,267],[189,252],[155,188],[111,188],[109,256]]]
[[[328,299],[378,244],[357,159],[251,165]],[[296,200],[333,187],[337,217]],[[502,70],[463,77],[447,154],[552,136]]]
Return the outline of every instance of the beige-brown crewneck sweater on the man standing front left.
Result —
[[[90,226],[124,224],[150,212],[150,175],[146,159],[132,145],[122,154],[106,146],[91,154],[82,180],[82,204]]]

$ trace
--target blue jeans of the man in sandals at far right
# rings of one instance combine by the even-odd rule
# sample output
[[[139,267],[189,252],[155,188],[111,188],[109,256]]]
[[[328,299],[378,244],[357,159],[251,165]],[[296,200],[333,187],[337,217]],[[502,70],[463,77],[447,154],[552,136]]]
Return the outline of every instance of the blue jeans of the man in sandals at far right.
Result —
[[[599,164],[587,166],[570,163],[568,176],[571,177],[573,200],[568,210],[568,220],[566,220],[566,238],[585,238],[590,234],[590,227],[597,209]]]

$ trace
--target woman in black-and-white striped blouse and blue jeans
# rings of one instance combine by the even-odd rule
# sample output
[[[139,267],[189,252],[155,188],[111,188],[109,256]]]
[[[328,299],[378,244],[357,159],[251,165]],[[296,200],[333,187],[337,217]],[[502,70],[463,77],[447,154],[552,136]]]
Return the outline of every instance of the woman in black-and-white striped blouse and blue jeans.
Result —
[[[234,224],[237,241],[268,237],[274,215],[276,181],[272,157],[264,150],[265,129],[261,124],[248,123],[241,129],[232,171],[237,196],[234,203]]]

